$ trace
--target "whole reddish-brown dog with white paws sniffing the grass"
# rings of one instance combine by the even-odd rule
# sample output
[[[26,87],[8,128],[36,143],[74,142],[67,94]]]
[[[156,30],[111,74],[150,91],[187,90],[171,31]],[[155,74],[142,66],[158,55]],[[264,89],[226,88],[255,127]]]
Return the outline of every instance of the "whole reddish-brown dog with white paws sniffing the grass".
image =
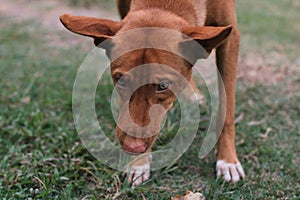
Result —
[[[226,108],[226,114],[222,134],[217,143],[217,175],[232,182],[244,177],[235,149],[235,87],[239,50],[235,0],[119,0],[118,7],[123,18],[121,22],[71,15],[62,15],[60,20],[70,31],[94,38],[96,45],[105,39],[111,39],[113,47],[107,49],[109,56],[113,56],[120,48],[131,45],[130,40],[114,40],[116,35],[144,27],[179,31],[202,45],[208,53],[216,48],[217,66],[226,92],[226,94],[220,92],[221,102],[226,102],[226,105],[221,105],[220,108]],[[147,40],[147,37],[137,37],[144,42]],[[169,40],[166,43],[168,43],[166,45],[177,45],[179,48],[179,43],[175,41]],[[201,55],[198,56],[200,57]],[[150,63],[170,66],[194,85],[191,79],[193,63],[190,64],[183,58],[163,50],[140,49],[129,52],[112,62],[111,74],[116,87],[126,89],[128,82],[145,78],[146,76],[129,76],[119,81],[129,70]],[[150,67],[143,74],[153,73],[151,69]],[[140,126],[147,126],[151,122],[149,112],[153,105],[159,104],[167,111],[176,99],[175,94],[168,90],[169,79],[163,77],[160,80],[156,84],[143,85],[130,97],[130,116]],[[120,116],[116,130],[122,148],[132,153],[149,152],[157,137],[159,124],[165,112],[156,112],[154,125],[152,124],[153,126],[145,132],[139,132],[130,126],[123,128],[126,126],[128,116],[122,117],[122,98],[119,101]],[[120,124],[124,124],[122,128]],[[136,163],[136,168],[142,169],[142,173],[130,172],[129,182],[137,185],[147,180],[149,162],[150,158]]]

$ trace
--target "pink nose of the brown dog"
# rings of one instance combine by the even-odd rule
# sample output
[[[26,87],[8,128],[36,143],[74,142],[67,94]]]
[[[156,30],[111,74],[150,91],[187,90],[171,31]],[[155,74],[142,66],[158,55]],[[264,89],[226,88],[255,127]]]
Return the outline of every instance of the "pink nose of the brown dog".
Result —
[[[147,145],[141,139],[127,137],[123,141],[122,148],[130,153],[144,153],[147,150]]]

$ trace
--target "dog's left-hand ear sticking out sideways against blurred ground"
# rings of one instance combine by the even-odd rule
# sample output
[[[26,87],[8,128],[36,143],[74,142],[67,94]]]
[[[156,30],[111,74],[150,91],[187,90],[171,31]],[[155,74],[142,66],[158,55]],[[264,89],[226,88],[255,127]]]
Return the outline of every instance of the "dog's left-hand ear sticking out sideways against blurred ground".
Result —
[[[105,39],[114,36],[121,28],[121,22],[108,19],[72,16],[68,14],[60,16],[59,19],[73,33],[94,38],[96,46]]]

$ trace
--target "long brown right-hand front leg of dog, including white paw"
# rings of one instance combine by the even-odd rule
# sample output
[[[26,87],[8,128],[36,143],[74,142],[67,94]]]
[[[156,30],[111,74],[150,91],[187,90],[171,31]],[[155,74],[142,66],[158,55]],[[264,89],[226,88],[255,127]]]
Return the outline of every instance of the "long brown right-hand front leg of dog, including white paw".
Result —
[[[225,93],[220,91],[220,109],[226,109],[224,127],[217,144],[216,170],[218,176],[232,182],[237,182],[245,176],[235,148],[235,87],[239,40],[239,31],[235,27],[228,40],[218,47],[216,52],[217,66],[225,87]]]

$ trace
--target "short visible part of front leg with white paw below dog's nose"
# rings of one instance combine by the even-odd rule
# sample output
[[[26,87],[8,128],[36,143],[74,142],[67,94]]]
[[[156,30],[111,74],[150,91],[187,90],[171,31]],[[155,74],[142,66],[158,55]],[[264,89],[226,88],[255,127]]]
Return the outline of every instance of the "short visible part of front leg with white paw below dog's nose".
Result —
[[[125,169],[128,183],[136,187],[150,178],[150,163],[152,156],[150,153],[142,154],[134,159]]]

